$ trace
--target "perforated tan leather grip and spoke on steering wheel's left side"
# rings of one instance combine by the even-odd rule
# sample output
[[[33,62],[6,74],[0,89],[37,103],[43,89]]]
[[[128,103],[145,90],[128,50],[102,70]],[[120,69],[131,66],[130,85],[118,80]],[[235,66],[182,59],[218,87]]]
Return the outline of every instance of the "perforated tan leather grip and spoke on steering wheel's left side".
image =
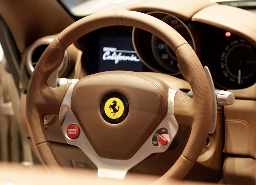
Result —
[[[69,85],[50,88],[47,80],[61,64],[66,47],[54,40],[45,50],[45,55],[39,60],[29,81],[26,99],[26,114],[28,129],[34,146],[48,141],[45,134],[43,118],[47,114],[58,114],[60,105]],[[53,55],[52,55],[53,53]],[[50,145],[47,145],[50,147]],[[49,148],[49,151],[52,151]],[[50,153],[52,161],[58,162],[54,153]],[[39,154],[39,158],[43,158]],[[49,157],[50,158],[50,157]],[[42,161],[45,161],[42,159]],[[49,162],[49,161],[48,161]],[[48,164],[47,162],[45,164]]]

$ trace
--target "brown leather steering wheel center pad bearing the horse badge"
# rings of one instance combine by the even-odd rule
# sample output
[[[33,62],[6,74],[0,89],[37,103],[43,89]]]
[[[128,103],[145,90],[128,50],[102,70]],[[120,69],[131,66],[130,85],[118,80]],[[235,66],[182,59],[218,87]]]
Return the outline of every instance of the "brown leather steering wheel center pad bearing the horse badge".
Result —
[[[164,119],[167,101],[168,86],[161,80],[102,72],[75,85],[71,108],[100,157],[129,159]]]

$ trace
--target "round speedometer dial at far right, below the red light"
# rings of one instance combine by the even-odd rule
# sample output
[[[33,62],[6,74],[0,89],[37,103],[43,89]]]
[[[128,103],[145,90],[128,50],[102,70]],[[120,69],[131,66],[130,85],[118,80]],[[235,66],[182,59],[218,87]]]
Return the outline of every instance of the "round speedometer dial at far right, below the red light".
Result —
[[[255,74],[256,55],[254,47],[244,39],[236,39],[225,45],[220,56],[220,73],[227,84],[243,86]]]

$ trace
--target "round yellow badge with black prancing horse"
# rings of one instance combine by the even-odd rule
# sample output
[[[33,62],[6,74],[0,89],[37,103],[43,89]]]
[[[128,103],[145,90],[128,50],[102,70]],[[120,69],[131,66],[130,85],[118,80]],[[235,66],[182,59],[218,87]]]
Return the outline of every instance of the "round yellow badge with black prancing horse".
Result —
[[[119,98],[109,98],[104,106],[105,114],[111,119],[122,116],[125,107]]]

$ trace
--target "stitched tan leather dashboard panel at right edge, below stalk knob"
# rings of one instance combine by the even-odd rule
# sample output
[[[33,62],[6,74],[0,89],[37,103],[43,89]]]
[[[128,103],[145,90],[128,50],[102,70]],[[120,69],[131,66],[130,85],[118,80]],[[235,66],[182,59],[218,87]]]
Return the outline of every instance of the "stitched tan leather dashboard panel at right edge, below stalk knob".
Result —
[[[251,156],[256,153],[256,101],[235,100],[225,106],[225,152]]]

